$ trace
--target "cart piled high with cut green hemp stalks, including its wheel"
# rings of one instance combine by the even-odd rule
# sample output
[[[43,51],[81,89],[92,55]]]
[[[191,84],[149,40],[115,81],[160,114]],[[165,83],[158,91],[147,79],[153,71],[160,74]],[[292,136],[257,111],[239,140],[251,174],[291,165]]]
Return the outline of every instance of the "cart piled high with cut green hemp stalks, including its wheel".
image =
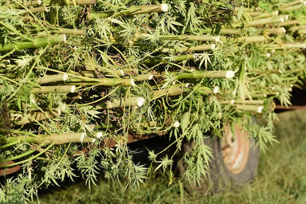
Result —
[[[0,202],[99,175],[252,181],[305,81],[305,4],[0,0]]]

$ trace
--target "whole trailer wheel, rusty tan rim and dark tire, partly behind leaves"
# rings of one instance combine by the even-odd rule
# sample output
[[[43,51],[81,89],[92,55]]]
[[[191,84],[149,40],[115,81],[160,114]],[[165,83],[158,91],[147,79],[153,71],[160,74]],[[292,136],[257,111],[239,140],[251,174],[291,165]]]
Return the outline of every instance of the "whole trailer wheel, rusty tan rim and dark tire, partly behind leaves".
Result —
[[[234,134],[233,134],[234,133]],[[254,139],[248,139],[248,133],[234,125],[233,132],[230,124],[223,128],[223,139],[213,137],[205,143],[213,149],[213,157],[210,163],[208,181],[203,179],[200,186],[192,186],[201,191],[218,193],[225,187],[251,182],[256,174],[259,162],[259,148]],[[183,152],[190,149],[192,143],[184,146]],[[179,165],[180,173],[184,167]]]

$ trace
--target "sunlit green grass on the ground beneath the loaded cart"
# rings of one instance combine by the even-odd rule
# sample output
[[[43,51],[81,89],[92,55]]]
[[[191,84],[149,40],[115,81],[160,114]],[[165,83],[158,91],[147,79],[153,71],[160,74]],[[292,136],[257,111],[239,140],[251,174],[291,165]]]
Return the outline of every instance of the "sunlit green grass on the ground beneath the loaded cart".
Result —
[[[85,183],[41,195],[41,204],[302,204],[306,203],[306,110],[286,111],[275,122],[280,143],[262,154],[252,184],[227,189],[215,196],[198,195],[167,176],[150,178],[137,192],[123,192],[117,184],[100,181],[91,191]]]

